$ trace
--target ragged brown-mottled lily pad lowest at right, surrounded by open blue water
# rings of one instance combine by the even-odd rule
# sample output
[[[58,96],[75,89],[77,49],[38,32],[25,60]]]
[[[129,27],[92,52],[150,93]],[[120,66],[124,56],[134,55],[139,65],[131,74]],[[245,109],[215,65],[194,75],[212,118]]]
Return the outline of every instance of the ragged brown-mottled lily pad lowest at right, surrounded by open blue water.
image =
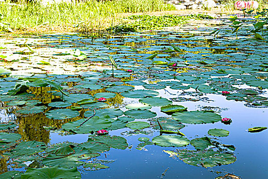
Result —
[[[209,149],[206,151],[196,151],[196,150],[179,150],[167,151],[164,152],[170,154],[170,156],[177,156],[181,161],[186,164],[193,166],[202,166],[202,167],[214,167],[220,165],[228,165],[236,161],[236,156],[227,153],[220,153]]]

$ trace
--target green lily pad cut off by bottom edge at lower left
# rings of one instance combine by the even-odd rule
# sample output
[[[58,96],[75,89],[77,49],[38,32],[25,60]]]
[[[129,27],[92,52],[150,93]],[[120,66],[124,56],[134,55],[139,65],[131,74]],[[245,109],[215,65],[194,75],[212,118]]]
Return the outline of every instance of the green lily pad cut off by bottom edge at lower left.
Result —
[[[47,168],[28,168],[27,171],[21,175],[21,179],[73,179],[81,178],[80,172],[77,168],[60,168],[58,166]]]

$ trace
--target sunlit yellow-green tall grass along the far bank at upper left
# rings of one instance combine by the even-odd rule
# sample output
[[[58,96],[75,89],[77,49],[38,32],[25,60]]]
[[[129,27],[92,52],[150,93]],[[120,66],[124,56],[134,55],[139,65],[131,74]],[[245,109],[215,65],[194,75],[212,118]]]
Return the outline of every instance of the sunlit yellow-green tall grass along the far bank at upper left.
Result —
[[[164,0],[87,0],[81,3],[60,3],[42,6],[21,3],[12,6],[0,3],[0,14],[15,30],[73,31],[75,28],[98,29],[120,21],[119,13],[175,10]]]

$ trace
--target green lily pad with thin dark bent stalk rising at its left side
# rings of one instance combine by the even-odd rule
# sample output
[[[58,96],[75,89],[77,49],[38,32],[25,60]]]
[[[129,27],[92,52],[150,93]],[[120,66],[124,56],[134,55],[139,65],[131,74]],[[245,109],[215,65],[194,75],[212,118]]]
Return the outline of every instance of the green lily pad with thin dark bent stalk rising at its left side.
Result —
[[[185,127],[184,124],[179,123],[177,120],[169,118],[169,117],[159,117],[159,118],[150,119],[149,121],[151,122],[153,128],[157,130],[160,130],[160,126],[157,120],[159,124],[161,125],[161,127],[163,128],[163,130],[179,130]]]

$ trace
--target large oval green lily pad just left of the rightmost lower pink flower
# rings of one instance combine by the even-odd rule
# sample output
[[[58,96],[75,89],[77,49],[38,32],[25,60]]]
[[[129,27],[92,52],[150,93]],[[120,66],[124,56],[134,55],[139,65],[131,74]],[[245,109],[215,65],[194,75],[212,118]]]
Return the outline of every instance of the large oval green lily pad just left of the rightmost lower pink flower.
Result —
[[[206,124],[222,120],[220,115],[208,111],[182,111],[174,113],[172,118],[188,124]]]

